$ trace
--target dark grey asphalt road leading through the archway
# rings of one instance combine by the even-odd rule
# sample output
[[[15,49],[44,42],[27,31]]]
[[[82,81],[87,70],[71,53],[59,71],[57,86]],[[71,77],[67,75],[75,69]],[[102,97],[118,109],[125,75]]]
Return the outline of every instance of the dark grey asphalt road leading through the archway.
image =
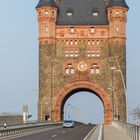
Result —
[[[93,125],[78,125],[74,128],[58,128],[12,140],[83,140],[93,127]]]

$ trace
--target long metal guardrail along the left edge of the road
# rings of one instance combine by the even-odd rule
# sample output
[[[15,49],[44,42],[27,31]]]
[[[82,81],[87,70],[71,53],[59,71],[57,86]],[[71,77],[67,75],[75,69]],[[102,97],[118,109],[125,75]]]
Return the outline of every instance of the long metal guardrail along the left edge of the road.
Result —
[[[0,130],[0,137],[14,135],[18,133],[24,133],[31,131],[33,129],[39,129],[42,127],[53,127],[53,126],[59,126],[62,125],[62,122],[59,123],[33,123],[33,124],[24,124],[24,125],[16,125],[16,126],[10,126],[7,128],[4,128]]]

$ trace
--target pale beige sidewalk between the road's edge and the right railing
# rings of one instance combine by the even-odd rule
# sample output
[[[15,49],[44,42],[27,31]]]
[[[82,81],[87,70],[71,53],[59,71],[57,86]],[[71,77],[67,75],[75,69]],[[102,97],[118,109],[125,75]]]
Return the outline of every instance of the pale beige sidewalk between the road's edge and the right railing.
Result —
[[[104,126],[104,140],[131,140],[119,129],[111,125]]]

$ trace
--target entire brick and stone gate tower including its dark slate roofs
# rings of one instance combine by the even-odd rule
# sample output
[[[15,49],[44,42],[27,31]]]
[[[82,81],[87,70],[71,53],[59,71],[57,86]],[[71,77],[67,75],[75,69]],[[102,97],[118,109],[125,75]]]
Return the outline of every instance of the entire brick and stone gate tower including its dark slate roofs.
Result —
[[[66,100],[90,91],[103,103],[105,124],[126,121],[125,0],[40,0],[36,9],[38,119],[63,120]]]

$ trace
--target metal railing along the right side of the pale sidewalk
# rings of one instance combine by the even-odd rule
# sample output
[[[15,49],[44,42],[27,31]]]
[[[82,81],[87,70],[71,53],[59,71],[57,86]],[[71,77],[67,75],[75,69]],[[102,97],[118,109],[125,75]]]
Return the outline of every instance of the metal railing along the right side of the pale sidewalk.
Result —
[[[131,140],[140,140],[140,127],[134,124],[113,121],[113,125],[125,133]]]

